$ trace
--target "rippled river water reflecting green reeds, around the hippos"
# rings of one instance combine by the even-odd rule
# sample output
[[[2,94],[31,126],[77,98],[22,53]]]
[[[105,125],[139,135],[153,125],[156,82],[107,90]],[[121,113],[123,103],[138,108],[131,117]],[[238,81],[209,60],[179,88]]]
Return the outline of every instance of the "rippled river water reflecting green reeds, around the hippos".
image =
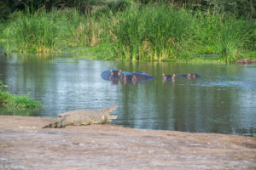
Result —
[[[111,84],[102,71],[145,71],[155,79]],[[198,79],[162,82],[162,73]],[[50,116],[119,105],[112,123],[125,127],[252,135],[256,130],[256,65],[78,59],[73,54],[0,54],[0,79],[11,94],[29,94],[37,110],[0,108],[2,115]]]

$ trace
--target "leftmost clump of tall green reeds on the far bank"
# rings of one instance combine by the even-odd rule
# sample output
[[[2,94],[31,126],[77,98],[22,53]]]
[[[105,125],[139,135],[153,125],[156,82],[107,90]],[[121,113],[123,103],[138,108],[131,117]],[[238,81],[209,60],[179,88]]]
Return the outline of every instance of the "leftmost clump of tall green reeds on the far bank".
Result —
[[[53,14],[22,14],[5,30],[8,39],[15,39],[17,48],[23,51],[48,51],[55,46],[56,26]],[[18,15],[18,14],[14,14]]]

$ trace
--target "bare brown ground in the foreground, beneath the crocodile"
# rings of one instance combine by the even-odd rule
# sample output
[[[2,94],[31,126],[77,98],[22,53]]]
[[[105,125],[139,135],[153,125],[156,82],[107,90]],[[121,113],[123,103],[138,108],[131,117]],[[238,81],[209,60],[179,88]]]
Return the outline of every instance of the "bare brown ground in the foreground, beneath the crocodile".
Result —
[[[0,116],[0,169],[256,169],[256,139]]]

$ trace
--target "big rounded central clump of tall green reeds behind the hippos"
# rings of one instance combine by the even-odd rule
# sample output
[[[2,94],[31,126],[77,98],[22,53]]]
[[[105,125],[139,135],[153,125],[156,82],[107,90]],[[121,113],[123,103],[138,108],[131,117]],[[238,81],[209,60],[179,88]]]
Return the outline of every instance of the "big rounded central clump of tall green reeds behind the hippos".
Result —
[[[113,53],[120,59],[176,59],[186,54],[183,49],[189,47],[193,34],[190,14],[161,5],[133,6],[111,21]]]

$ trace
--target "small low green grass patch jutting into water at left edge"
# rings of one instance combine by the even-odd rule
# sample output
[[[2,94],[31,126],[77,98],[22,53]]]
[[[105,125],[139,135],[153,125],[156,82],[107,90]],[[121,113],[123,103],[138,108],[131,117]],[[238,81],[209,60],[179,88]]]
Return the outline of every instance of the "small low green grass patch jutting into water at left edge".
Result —
[[[5,85],[0,81],[0,105],[13,109],[36,108],[40,106],[38,101],[29,98],[28,95],[16,96],[5,90]]]

